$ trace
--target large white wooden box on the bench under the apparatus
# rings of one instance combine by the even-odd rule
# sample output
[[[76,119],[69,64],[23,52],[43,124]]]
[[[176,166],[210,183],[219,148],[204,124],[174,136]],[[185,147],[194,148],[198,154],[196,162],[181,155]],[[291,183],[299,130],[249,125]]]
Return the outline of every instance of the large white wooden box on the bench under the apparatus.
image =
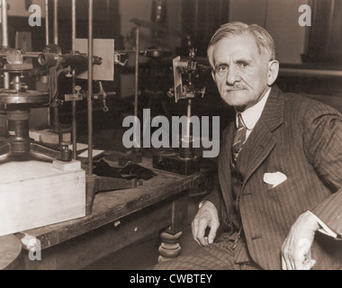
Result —
[[[0,161],[0,236],[84,217],[85,171],[77,162]]]

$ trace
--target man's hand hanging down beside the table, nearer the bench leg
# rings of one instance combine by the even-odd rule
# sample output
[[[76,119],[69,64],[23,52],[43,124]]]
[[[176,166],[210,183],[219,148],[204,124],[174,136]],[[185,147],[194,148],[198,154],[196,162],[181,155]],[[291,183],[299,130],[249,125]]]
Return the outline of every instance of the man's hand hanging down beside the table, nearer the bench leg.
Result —
[[[201,246],[211,244],[216,237],[219,226],[219,214],[215,205],[210,201],[202,202],[202,206],[192,222],[193,239]],[[210,232],[208,237],[205,237],[207,227],[210,227]]]

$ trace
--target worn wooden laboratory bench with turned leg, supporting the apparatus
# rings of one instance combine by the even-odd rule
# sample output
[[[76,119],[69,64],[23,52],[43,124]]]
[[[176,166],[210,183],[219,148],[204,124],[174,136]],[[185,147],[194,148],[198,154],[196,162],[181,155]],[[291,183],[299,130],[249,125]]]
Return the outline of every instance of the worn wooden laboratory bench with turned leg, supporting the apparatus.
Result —
[[[152,169],[150,158],[143,158],[139,165]],[[201,169],[186,176],[152,170],[157,175],[142,180],[137,188],[96,193],[91,215],[16,233],[20,239],[39,239],[41,246],[41,260],[32,261],[30,247],[23,245],[20,268],[80,269],[160,232],[162,259],[176,257],[187,218],[188,192],[205,189],[211,171]]]

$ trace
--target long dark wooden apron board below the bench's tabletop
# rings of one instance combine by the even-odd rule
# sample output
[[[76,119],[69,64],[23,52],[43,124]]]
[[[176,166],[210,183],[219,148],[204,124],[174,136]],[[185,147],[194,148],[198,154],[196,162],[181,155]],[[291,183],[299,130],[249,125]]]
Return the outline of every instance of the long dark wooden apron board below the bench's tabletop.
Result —
[[[41,252],[40,261],[23,257],[23,269],[80,269],[171,224],[172,201],[112,221]],[[156,247],[157,249],[157,247]],[[26,251],[27,255],[28,251]],[[157,264],[157,259],[156,259]]]

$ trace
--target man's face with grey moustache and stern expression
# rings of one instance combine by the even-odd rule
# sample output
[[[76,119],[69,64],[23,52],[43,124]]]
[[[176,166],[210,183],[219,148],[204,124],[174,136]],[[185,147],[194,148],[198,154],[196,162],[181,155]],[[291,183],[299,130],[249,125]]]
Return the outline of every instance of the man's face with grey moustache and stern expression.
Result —
[[[250,35],[217,42],[212,52],[212,77],[221,98],[238,111],[256,104],[268,88],[268,60]]]

